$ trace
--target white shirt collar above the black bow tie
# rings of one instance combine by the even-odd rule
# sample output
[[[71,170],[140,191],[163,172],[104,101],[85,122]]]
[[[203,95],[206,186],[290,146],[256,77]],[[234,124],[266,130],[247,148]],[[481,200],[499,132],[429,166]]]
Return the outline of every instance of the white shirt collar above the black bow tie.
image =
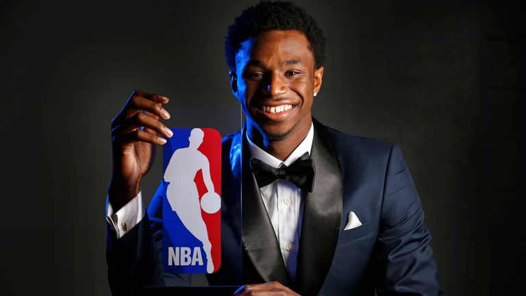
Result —
[[[281,161],[255,145],[247,134],[247,142],[249,143],[249,152],[251,158],[257,158],[258,160],[261,160],[262,162],[275,168],[278,168],[281,166],[281,164],[285,164],[287,167],[290,166],[290,164],[295,162],[305,152],[308,152],[310,155],[310,149],[312,149],[312,140],[314,140],[314,125],[311,123],[307,136],[298,145],[298,147],[296,147],[296,149],[290,153],[290,156],[288,156],[286,160]]]

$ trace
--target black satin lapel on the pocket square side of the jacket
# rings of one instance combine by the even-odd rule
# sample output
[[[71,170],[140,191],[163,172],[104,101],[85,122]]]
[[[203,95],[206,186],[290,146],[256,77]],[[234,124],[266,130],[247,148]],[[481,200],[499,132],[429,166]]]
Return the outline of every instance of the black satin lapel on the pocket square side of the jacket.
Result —
[[[297,292],[317,295],[331,266],[342,217],[343,186],[340,164],[326,128],[314,122],[311,157],[316,177],[314,190],[305,197],[299,254]]]

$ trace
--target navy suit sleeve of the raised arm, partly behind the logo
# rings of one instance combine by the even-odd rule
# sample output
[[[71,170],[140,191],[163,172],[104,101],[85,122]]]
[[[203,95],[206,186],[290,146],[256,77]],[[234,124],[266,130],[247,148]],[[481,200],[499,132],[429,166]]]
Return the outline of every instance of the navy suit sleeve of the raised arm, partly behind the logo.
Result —
[[[159,186],[148,212],[132,230],[117,238],[107,226],[106,262],[112,295],[131,295],[142,286],[189,284],[188,275],[162,269],[162,192]]]

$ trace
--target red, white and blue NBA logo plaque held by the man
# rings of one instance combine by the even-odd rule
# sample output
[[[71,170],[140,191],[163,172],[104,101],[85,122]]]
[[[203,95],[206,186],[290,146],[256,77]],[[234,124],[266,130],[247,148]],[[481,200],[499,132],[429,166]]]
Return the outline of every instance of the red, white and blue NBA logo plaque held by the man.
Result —
[[[172,131],[163,150],[164,270],[213,273],[221,264],[221,135]]]

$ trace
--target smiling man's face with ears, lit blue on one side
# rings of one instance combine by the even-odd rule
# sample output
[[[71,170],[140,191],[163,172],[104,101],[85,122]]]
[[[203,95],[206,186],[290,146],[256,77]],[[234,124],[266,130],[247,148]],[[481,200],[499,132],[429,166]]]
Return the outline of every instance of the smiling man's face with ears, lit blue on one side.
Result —
[[[253,128],[276,140],[306,134],[322,76],[323,67],[314,69],[309,42],[300,32],[265,32],[242,42],[231,86],[249,132]]]

